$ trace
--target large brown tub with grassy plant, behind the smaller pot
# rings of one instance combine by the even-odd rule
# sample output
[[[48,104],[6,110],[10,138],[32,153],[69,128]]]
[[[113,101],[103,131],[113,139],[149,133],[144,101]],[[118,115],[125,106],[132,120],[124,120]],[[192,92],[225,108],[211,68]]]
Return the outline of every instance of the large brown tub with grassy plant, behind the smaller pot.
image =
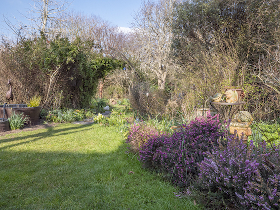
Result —
[[[9,118],[11,116],[11,112],[13,113],[23,113],[23,116],[29,117],[29,121],[26,121],[28,126],[35,126],[39,122],[40,117],[40,106],[37,107],[27,107],[26,104],[7,104],[5,106],[5,116],[4,118]],[[0,105],[0,118],[3,118],[3,105]]]

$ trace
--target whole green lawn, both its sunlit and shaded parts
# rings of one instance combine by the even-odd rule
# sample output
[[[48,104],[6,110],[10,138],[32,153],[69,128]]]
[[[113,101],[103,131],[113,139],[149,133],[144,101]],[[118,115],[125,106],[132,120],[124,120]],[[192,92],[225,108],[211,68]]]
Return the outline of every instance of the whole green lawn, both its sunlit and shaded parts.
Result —
[[[143,169],[113,127],[61,124],[0,137],[1,210],[195,210]],[[130,173],[133,171],[134,173]]]

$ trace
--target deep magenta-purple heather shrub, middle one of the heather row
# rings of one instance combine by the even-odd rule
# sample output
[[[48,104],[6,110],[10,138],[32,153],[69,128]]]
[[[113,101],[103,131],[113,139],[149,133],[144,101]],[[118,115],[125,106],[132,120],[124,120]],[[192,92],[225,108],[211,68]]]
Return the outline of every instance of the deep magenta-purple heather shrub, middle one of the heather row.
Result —
[[[180,187],[190,184],[198,176],[198,163],[205,152],[218,146],[221,132],[218,116],[197,118],[172,136],[162,135],[150,138],[140,150],[140,161],[147,168],[165,174]]]

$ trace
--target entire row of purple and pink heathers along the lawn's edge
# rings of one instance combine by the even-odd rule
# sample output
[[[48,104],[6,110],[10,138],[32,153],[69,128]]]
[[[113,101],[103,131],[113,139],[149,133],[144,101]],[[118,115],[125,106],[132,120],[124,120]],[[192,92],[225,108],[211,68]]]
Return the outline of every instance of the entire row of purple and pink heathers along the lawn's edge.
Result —
[[[195,187],[224,208],[279,209],[279,147],[267,147],[265,142],[254,146],[252,141],[247,146],[242,137],[225,136],[217,116],[210,115],[171,136],[147,133],[151,135],[134,126],[127,143],[141,139],[138,151],[143,165],[182,190]]]

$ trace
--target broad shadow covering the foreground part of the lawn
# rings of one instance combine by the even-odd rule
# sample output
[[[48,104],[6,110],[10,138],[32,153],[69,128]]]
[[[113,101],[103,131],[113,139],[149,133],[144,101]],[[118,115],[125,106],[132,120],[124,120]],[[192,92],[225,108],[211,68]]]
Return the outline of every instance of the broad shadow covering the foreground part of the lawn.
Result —
[[[120,145],[106,154],[1,150],[0,208],[198,209],[174,199],[175,189],[142,169],[117,141]]]

